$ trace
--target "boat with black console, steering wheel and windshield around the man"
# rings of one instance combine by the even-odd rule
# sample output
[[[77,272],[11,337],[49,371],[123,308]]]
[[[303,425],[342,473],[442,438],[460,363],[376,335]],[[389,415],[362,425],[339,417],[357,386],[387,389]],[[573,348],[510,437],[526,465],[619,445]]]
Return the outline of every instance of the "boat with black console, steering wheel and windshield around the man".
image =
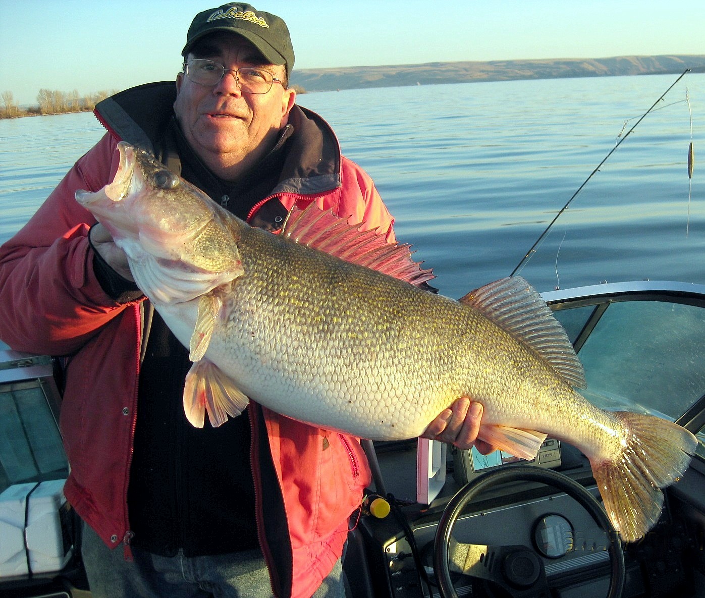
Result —
[[[348,597],[705,597],[705,286],[634,281],[542,296],[584,365],[586,398],[697,435],[697,454],[665,490],[658,523],[624,544],[587,458],[557,439],[546,439],[532,461],[423,439],[363,441],[374,482],[350,519]],[[68,465],[51,359],[7,350],[0,362],[0,489],[60,481]],[[13,406],[25,400],[31,408]],[[32,494],[28,500],[31,507]],[[71,511],[61,496],[56,512],[45,502],[42,516],[54,521],[46,542],[59,552],[54,569],[4,575],[0,568],[0,596],[90,597]],[[26,512],[31,523],[32,508]],[[0,513],[4,559],[4,533],[13,529],[2,527],[6,519]],[[33,548],[24,549],[20,568],[37,562]]]

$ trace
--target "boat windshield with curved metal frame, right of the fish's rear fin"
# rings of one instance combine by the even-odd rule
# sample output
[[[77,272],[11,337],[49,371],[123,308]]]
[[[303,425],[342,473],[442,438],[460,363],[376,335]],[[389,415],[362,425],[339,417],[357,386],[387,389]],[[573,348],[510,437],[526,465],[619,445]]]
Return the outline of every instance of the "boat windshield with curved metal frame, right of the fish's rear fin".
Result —
[[[580,392],[601,408],[684,425],[705,456],[705,289],[630,285],[544,293],[584,366]]]

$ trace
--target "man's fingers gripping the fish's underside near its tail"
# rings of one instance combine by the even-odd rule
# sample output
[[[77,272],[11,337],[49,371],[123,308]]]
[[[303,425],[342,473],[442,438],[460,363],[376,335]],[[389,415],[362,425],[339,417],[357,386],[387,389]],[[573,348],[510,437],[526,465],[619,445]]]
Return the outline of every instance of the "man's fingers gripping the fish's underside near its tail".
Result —
[[[458,448],[470,448],[474,444],[480,453],[486,455],[494,451],[494,447],[477,439],[481,420],[482,403],[462,396],[448,409],[441,411],[421,437],[455,444]]]

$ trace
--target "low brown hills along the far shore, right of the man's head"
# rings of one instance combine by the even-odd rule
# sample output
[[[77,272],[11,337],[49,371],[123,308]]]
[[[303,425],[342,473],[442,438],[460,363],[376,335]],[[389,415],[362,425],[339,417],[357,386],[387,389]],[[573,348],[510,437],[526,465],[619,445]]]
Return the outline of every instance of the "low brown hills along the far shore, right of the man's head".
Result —
[[[694,73],[705,73],[705,54],[302,68],[294,69],[291,83],[307,92],[315,92],[434,83],[655,75],[682,73],[686,68]]]

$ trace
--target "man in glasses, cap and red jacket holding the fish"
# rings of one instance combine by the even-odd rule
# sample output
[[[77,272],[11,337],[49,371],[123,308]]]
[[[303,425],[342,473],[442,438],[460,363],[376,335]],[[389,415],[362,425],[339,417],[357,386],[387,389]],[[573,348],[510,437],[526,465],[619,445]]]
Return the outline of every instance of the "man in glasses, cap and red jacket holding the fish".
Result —
[[[2,338],[63,356],[65,494],[87,524],[95,597],[340,596],[348,518],[370,482],[359,441],[255,403],[219,428],[191,427],[188,350],[74,195],[111,181],[126,140],[272,232],[295,202],[353,214],[390,241],[393,219],[325,121],[295,104],[281,18],[246,4],[204,11],[183,56],[176,86],[97,106],[108,133],[0,248]],[[424,435],[467,448],[481,410],[466,417],[469,405],[456,401]]]

